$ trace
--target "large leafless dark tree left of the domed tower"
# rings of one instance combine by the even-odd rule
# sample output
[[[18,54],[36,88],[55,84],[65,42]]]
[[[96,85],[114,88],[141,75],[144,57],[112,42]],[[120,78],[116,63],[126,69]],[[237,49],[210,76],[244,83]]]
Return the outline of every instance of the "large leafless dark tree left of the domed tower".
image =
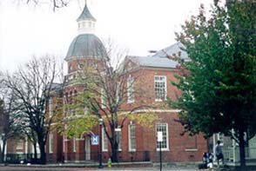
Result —
[[[30,133],[35,133],[43,164],[46,162],[45,143],[53,118],[46,116],[46,102],[56,76],[54,58],[44,56],[34,57],[14,74],[7,74],[4,81],[15,96],[17,112],[13,117],[24,128],[30,128]]]

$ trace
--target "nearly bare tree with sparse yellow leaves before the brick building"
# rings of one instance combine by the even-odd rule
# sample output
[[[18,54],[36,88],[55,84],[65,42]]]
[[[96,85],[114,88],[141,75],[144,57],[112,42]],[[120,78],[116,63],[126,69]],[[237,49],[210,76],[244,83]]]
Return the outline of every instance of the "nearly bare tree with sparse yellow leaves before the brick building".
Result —
[[[94,48],[98,47],[99,45],[96,43]],[[79,110],[86,110],[86,112],[80,112],[81,115],[84,113],[87,115],[85,118],[88,119],[88,115],[94,115],[103,119],[104,133],[111,143],[112,161],[118,161],[117,128],[123,128],[126,120],[136,120],[138,123],[151,125],[152,121],[158,120],[158,117],[150,112],[149,109],[152,108],[152,105],[134,102],[135,96],[142,98],[147,95],[143,89],[144,86],[141,85],[143,76],[136,72],[138,68],[125,60],[124,50],[116,50],[112,44],[108,45],[106,49],[104,57],[80,60],[78,63],[80,70],[77,71],[77,76],[71,76],[76,79],[66,83],[84,86],[83,92],[77,95],[76,100],[70,102],[82,104]],[[100,50],[103,49],[100,48]],[[71,104],[69,104],[69,108],[71,108]],[[77,105],[73,109],[77,110]],[[138,110],[145,111],[146,109],[148,109],[147,119],[143,114],[133,115]],[[69,111],[71,110],[69,109]],[[83,133],[83,129],[77,131],[78,128],[74,126],[77,124],[76,120],[73,120],[74,122],[65,121],[65,130],[70,131],[67,135]]]

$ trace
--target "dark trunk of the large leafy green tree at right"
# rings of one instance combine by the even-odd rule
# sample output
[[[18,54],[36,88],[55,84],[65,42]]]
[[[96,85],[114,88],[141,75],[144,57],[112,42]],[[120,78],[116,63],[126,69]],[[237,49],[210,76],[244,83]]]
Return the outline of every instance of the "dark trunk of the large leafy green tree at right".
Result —
[[[239,128],[239,155],[240,155],[240,170],[246,170],[246,142],[244,138],[244,128]]]

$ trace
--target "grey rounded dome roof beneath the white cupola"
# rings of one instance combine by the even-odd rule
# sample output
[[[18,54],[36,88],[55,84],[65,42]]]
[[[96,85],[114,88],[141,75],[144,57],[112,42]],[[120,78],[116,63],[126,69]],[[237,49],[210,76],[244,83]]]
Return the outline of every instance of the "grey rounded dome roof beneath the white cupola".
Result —
[[[78,35],[72,41],[65,60],[72,57],[105,57],[106,51],[98,36],[93,34]]]

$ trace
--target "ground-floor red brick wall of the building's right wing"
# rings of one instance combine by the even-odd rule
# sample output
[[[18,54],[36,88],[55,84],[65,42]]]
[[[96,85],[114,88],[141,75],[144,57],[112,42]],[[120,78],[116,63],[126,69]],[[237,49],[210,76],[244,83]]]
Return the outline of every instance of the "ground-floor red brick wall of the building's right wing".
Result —
[[[178,118],[176,113],[159,114],[163,123],[168,124],[169,150],[163,151],[163,161],[201,161],[203,152],[207,151],[207,145],[202,135],[190,136],[180,135],[184,128],[174,119]],[[158,160],[156,151],[156,128],[142,128],[136,125],[136,152],[128,150],[128,124],[122,128],[122,160],[130,161],[131,155],[135,154],[136,159],[143,161],[145,151],[149,151],[151,161]],[[196,150],[196,151],[186,151]]]

